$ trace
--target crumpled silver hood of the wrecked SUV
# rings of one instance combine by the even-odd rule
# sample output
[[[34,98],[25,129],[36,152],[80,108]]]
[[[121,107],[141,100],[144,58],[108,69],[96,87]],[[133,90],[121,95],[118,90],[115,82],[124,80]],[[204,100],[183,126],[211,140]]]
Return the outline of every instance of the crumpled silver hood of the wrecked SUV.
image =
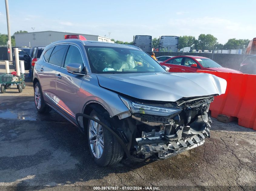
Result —
[[[226,80],[205,73],[97,74],[101,87],[141,100],[177,101],[182,97],[224,94]]]

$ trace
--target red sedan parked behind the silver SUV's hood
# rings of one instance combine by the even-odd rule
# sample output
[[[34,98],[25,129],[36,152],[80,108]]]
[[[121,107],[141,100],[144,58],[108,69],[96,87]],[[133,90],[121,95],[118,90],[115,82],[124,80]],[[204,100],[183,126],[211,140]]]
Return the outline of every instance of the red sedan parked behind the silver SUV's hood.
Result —
[[[169,72],[196,72],[200,69],[242,74],[237,70],[223,68],[217,62],[202,56],[175,56],[160,64],[169,67]]]

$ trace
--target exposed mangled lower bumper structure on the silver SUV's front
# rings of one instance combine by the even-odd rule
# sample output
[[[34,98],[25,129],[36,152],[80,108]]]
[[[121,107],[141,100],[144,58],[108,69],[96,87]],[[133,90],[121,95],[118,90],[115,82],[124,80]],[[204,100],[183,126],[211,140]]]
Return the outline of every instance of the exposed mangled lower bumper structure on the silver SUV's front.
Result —
[[[153,154],[157,154],[158,158],[166,159],[203,145],[204,139],[210,137],[210,127],[210,123],[205,123],[203,129],[196,131],[190,126],[177,126],[176,134],[136,138],[138,145],[135,148],[137,154],[141,154],[144,159]]]

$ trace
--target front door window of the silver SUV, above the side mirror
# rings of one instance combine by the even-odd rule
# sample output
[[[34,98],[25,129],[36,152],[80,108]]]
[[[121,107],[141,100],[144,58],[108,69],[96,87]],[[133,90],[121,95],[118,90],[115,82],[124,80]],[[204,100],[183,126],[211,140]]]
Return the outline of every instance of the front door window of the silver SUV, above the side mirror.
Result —
[[[72,45],[69,46],[68,53],[64,63],[64,68],[67,68],[67,65],[71,63],[79,63],[81,64],[81,66],[83,66],[83,59],[79,49]]]

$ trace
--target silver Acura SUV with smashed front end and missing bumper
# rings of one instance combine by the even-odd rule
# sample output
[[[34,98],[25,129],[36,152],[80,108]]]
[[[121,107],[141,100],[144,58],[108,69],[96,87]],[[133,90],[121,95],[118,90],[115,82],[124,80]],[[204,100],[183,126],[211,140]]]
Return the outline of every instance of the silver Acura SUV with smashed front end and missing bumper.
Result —
[[[39,113],[54,109],[85,133],[100,166],[124,154],[135,161],[154,154],[165,159],[204,143],[210,103],[227,83],[164,68],[130,46],[61,40],[35,63],[35,107]]]

